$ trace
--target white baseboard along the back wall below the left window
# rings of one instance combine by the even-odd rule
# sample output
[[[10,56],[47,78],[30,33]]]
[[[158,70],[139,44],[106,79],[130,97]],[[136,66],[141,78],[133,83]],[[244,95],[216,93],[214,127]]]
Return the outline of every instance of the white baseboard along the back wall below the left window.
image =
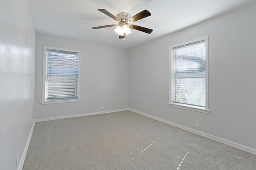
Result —
[[[83,113],[83,114],[76,114],[76,115],[67,115],[67,116],[58,116],[58,117],[49,117],[49,118],[43,118],[43,119],[35,119],[36,122],[40,121],[48,121],[48,120],[56,120],[56,119],[66,119],[66,118],[72,118],[72,117],[82,117],[82,116],[89,116],[89,115],[98,115],[98,114],[104,114],[104,113],[113,113],[118,111],[127,111],[127,109],[117,109],[117,110],[108,110],[108,111],[99,111],[99,112],[93,112],[93,113]]]

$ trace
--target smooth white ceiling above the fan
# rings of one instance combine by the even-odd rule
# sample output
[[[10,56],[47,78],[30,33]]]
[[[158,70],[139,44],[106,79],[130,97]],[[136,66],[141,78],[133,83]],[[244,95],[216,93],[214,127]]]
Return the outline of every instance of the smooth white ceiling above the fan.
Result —
[[[141,0],[29,0],[36,32],[80,41],[131,49],[153,39],[174,33],[256,0],[152,0],[147,10],[152,14],[132,24],[153,29],[147,34],[135,29],[119,39],[115,27],[92,29],[117,24],[98,9],[114,16],[127,12],[131,16],[146,9]]]

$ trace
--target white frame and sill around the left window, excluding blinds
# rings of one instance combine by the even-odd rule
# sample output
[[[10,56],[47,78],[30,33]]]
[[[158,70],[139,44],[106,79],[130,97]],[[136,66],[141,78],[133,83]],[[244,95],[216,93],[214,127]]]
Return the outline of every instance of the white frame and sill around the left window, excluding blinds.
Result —
[[[46,99],[46,71],[47,71],[47,49],[54,49],[60,51],[70,51],[78,53],[78,98],[68,99]],[[44,46],[43,53],[43,75],[42,75],[42,102],[40,104],[58,104],[58,103],[69,103],[69,102],[80,102],[82,100],[80,95],[80,63],[81,63],[81,51],[73,49],[64,49],[59,47]]]

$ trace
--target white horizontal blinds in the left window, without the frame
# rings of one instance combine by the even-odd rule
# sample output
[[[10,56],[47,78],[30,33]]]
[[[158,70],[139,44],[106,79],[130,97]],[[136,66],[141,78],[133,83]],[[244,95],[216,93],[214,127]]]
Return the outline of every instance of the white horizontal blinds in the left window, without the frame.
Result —
[[[78,53],[47,49],[46,99],[78,98]]]

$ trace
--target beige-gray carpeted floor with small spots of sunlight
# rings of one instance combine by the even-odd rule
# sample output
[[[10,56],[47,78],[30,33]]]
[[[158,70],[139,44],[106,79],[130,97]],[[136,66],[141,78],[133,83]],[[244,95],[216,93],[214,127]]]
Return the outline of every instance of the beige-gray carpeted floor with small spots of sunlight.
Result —
[[[256,170],[256,155],[120,111],[36,123],[23,170]]]

